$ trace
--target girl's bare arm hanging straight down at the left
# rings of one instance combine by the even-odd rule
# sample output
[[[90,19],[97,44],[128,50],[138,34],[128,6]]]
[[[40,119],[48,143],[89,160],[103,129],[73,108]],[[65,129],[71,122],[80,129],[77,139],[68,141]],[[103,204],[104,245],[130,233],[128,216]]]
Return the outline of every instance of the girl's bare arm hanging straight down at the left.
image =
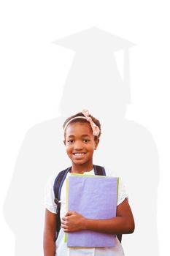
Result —
[[[55,256],[56,214],[45,210],[44,255]]]

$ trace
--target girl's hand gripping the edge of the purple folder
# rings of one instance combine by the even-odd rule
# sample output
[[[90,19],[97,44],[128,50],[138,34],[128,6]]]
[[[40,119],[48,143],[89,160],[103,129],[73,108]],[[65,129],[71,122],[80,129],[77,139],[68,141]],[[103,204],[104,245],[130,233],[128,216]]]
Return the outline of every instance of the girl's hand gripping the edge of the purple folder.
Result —
[[[61,227],[66,233],[85,229],[85,217],[76,211],[67,211],[65,217],[61,219]]]

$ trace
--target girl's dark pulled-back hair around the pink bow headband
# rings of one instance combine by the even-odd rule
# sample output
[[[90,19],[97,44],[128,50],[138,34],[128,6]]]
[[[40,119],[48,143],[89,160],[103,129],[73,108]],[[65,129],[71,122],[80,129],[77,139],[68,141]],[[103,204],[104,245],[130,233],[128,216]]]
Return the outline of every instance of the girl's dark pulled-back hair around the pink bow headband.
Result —
[[[83,115],[83,113],[80,112],[80,113],[75,114],[74,116],[70,116],[69,118],[66,118],[66,121],[64,121],[64,123],[63,123],[63,129],[64,129],[64,127],[66,126],[66,123],[67,123],[69,120],[71,120],[72,118],[74,118],[74,117],[77,117],[77,118],[75,118],[74,120],[72,120],[69,124],[78,123],[78,122],[79,122],[79,123],[88,123],[88,124],[90,124],[88,120],[86,120],[85,118],[80,118],[80,116],[85,117],[85,116]],[[91,116],[91,115],[89,115],[89,116],[90,116],[90,118],[92,118],[93,122],[94,122],[94,123],[97,125],[97,127],[100,129],[99,135],[98,135],[98,136],[95,136],[95,138],[99,138],[100,135],[101,135],[101,124],[100,124],[100,121],[98,121],[98,119],[96,119],[95,117],[93,117],[93,116]]]

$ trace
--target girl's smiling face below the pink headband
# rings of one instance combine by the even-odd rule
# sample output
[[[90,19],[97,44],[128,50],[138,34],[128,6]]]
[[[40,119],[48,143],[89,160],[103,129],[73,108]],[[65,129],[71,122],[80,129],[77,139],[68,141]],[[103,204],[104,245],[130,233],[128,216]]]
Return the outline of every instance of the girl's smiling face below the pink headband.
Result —
[[[66,128],[64,144],[72,165],[92,167],[93,151],[98,146],[89,123],[75,122]]]

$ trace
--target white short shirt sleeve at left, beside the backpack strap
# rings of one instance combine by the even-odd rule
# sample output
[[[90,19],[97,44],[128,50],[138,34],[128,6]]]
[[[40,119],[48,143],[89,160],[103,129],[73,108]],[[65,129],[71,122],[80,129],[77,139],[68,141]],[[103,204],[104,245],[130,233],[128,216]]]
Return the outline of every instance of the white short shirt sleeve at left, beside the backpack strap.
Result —
[[[45,201],[44,201],[44,205],[45,208],[47,208],[48,211],[52,212],[53,214],[56,214],[57,211],[57,205],[54,202],[54,191],[53,191],[53,184],[55,181],[55,176],[52,176],[46,184],[45,187]]]

